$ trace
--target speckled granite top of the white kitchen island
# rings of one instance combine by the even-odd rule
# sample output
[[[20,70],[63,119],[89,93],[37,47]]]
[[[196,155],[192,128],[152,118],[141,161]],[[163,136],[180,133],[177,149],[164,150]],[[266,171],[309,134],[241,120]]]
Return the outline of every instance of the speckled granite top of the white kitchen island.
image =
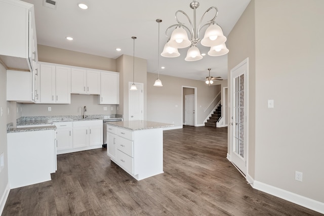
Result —
[[[172,127],[174,124],[161,123],[155,121],[144,121],[144,120],[134,120],[134,121],[113,121],[107,122],[107,124],[112,126],[117,126],[131,131],[139,131],[144,129],[153,129],[161,127]]]

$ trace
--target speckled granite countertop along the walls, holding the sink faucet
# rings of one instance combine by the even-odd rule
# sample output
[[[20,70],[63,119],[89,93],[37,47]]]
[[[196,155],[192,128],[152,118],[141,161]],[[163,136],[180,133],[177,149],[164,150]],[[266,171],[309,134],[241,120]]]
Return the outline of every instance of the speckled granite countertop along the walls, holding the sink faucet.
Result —
[[[123,118],[123,115],[109,114],[109,115],[87,115],[83,118],[81,115],[62,115],[62,116],[30,116],[20,117],[17,119],[17,127],[13,126],[13,123],[7,124],[7,133],[28,132],[28,131],[44,131],[47,129],[56,129],[53,125],[54,122],[62,121],[89,121],[89,120],[103,120]],[[24,127],[27,126],[28,127]],[[30,126],[30,125],[35,125]]]

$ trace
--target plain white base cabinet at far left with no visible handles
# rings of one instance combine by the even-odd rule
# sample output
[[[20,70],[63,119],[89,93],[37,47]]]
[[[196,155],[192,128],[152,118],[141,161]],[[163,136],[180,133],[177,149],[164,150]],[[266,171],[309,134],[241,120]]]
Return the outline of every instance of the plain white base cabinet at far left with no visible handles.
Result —
[[[51,180],[56,171],[55,130],[8,133],[10,188]]]

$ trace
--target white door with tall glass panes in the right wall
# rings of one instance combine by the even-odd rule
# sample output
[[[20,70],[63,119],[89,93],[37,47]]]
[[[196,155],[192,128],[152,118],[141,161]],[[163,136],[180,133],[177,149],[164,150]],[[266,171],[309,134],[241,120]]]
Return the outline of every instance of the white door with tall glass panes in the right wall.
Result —
[[[231,69],[231,162],[247,174],[248,155],[248,62]]]

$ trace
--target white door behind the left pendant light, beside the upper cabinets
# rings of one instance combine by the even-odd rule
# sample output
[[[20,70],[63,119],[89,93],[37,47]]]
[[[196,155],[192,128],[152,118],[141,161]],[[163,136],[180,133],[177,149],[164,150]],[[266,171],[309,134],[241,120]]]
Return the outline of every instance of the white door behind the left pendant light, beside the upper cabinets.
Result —
[[[143,83],[135,83],[137,91],[130,91],[133,82],[129,82],[129,120],[143,120],[144,93]]]

